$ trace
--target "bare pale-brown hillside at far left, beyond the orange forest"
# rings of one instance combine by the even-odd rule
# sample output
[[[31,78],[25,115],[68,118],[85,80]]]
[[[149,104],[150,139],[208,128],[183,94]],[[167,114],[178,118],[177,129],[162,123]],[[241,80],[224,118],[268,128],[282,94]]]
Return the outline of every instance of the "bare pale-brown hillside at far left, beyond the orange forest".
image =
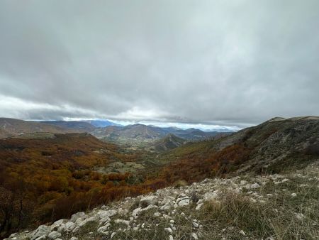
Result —
[[[0,138],[19,136],[26,133],[72,133],[72,129],[61,126],[39,123],[36,121],[23,121],[18,119],[0,118]]]

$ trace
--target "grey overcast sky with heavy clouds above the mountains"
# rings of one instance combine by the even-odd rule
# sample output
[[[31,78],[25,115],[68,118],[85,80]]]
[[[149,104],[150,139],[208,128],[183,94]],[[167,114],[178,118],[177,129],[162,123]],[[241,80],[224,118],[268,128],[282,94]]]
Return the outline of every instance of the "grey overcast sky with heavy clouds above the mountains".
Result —
[[[0,1],[0,116],[319,115],[318,0]]]

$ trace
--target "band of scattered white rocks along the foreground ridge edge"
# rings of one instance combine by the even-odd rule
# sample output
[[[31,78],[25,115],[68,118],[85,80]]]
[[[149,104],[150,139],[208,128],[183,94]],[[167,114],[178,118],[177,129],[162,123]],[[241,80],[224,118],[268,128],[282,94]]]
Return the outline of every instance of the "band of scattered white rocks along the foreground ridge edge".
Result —
[[[218,204],[222,204],[225,200],[227,193],[235,196],[245,195],[247,200],[255,204],[269,204],[269,201],[278,194],[259,191],[264,186],[264,182],[272,181],[273,184],[276,182],[281,184],[281,182],[287,182],[285,179],[289,178],[284,175],[268,175],[257,178],[245,176],[244,179],[242,180],[240,177],[206,179],[189,186],[167,187],[144,196],[126,197],[122,201],[98,207],[91,212],[73,214],[69,220],[60,219],[50,226],[41,225],[34,231],[11,234],[9,239],[77,240],[77,236],[81,233],[79,230],[83,230],[82,228],[85,228],[88,223],[92,223],[90,227],[94,226],[95,229],[92,229],[91,234],[86,233],[87,239],[92,239],[94,234],[105,236],[105,239],[120,239],[121,233],[132,234],[134,232],[137,234],[142,231],[151,231],[154,228],[164,231],[166,234],[164,239],[179,239],[181,220],[186,221],[187,227],[191,229],[187,239],[204,239],[203,223],[200,219],[194,219],[194,215],[197,213],[200,215],[205,204],[210,202],[218,207]],[[312,181],[315,180],[317,178],[312,178]],[[282,192],[289,197],[300,195],[299,192],[290,192],[288,187],[287,189],[283,188]],[[140,217],[144,212],[147,212],[145,216],[150,217],[150,222]],[[295,215],[296,219],[301,222],[306,218],[301,213]],[[240,229],[237,234],[241,238],[249,236],[248,232],[240,231]],[[82,236],[81,239],[83,239]]]

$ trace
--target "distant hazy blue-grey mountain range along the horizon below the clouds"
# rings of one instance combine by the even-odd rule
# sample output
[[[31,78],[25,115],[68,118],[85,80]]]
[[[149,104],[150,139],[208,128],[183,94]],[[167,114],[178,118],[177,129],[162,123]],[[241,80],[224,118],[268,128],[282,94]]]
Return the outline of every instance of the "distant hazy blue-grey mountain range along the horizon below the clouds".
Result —
[[[18,119],[0,119],[0,138],[22,136],[32,133],[91,133],[103,141],[115,143],[155,143],[172,134],[183,141],[201,141],[209,138],[225,136],[229,133],[218,131],[201,131],[199,129],[178,129],[176,127],[161,128],[133,124],[119,126],[108,120],[87,121],[23,121]],[[37,135],[38,136],[38,135]],[[172,138],[172,136],[170,136]],[[164,144],[165,145],[165,144]],[[165,147],[163,147],[165,148]]]

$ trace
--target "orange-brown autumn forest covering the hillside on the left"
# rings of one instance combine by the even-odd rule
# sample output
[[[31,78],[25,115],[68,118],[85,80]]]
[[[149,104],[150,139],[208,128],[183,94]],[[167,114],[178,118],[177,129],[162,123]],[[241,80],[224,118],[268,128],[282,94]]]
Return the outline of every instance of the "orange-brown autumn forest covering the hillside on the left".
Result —
[[[87,133],[0,140],[0,237],[122,197],[130,175],[94,169],[137,159]]]

